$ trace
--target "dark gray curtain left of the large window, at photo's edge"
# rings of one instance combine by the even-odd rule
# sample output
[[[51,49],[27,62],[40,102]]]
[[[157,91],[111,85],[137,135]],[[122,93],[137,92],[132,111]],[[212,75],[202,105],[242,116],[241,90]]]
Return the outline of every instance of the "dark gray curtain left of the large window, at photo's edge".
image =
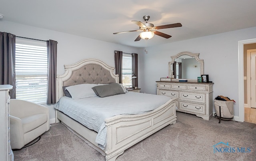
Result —
[[[13,34],[0,32],[0,84],[10,84],[10,97],[16,98],[15,42]]]

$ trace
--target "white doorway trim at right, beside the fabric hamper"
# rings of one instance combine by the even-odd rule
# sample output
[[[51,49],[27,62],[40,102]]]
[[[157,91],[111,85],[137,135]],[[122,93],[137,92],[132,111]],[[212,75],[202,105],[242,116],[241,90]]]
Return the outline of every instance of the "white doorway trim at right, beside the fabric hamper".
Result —
[[[244,122],[244,45],[256,43],[255,39],[238,41],[238,120]]]

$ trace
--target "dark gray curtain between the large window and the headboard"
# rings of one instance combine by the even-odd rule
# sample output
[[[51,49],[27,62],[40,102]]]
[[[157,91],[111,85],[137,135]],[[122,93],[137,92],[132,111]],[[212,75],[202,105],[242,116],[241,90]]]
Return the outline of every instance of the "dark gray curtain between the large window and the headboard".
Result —
[[[57,42],[47,41],[47,104],[56,103]]]

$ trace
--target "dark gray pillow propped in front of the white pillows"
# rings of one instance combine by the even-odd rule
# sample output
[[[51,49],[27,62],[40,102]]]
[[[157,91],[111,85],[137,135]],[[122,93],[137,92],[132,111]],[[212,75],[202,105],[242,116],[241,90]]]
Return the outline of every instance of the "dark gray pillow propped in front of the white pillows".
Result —
[[[110,83],[106,85],[98,85],[92,87],[96,95],[100,97],[107,97],[111,95],[125,94],[124,90],[118,83]]]

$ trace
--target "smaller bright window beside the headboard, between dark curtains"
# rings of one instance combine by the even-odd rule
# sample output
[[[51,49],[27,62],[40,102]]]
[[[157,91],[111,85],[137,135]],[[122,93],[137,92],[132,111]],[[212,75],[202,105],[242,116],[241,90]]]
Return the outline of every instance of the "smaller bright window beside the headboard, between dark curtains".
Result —
[[[132,87],[132,54],[123,53],[122,83],[124,87]]]

